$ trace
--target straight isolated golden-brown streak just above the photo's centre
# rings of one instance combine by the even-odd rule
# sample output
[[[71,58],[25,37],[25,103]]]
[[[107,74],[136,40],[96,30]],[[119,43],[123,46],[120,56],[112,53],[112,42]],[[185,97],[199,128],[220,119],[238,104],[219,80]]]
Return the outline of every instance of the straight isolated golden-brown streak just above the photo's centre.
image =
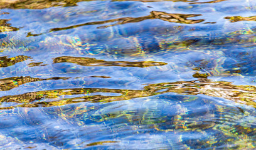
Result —
[[[82,66],[120,66],[120,67],[140,67],[146,68],[150,66],[163,66],[166,63],[156,61],[104,61],[95,58],[82,58],[82,57],[71,57],[62,56],[55,58],[53,63],[74,63]]]

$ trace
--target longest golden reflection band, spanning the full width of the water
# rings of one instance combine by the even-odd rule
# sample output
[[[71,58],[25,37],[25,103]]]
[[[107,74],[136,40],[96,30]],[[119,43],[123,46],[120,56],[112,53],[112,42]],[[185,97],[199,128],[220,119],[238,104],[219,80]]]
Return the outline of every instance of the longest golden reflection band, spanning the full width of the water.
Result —
[[[177,94],[205,94],[219,98],[230,99],[238,103],[248,104],[256,107],[256,87],[255,86],[237,86],[230,82],[220,81],[211,82],[207,79],[196,81],[180,81],[175,83],[149,84],[142,90],[132,89],[104,89],[104,88],[75,88],[75,89],[56,89],[50,91],[38,91],[14,96],[4,96],[0,101],[9,103],[18,103],[19,107],[50,107],[61,106],[65,104],[80,103],[90,101],[92,103],[123,101],[133,98],[142,98],[163,93]],[[120,96],[103,96],[99,93],[117,93]],[[82,96],[75,97],[78,94]],[[74,96],[65,98],[65,96]],[[1,108],[1,109],[11,109]]]

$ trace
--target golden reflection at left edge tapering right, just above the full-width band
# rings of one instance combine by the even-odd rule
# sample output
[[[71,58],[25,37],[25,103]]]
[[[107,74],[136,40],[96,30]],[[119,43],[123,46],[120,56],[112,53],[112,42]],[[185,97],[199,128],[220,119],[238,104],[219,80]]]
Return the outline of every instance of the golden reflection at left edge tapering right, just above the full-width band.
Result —
[[[31,78],[29,76],[21,76],[21,77],[11,77],[11,78],[4,78],[0,79],[0,91],[8,91],[13,88],[17,88],[18,86],[31,83],[36,81],[45,81],[45,80],[56,80],[56,79],[68,79],[68,78],[47,78],[47,79],[40,79],[40,78]]]

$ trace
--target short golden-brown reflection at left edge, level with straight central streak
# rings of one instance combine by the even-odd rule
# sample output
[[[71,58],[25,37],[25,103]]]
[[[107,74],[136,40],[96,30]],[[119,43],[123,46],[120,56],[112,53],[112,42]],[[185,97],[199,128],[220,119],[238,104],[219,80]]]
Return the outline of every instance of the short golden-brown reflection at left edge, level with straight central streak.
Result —
[[[24,55],[19,55],[13,58],[8,58],[8,56],[0,57],[0,68],[13,66],[16,63],[26,61],[29,58],[30,58],[29,56],[24,56]]]

